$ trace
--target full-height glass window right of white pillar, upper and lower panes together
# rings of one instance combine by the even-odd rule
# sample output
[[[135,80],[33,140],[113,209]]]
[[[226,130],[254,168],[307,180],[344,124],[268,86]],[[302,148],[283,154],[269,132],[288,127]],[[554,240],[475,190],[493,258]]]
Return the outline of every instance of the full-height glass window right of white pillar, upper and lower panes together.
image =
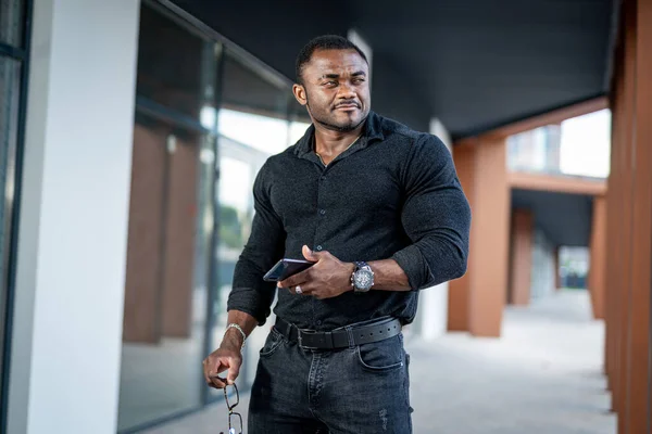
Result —
[[[118,430],[204,404],[217,52],[141,8]]]

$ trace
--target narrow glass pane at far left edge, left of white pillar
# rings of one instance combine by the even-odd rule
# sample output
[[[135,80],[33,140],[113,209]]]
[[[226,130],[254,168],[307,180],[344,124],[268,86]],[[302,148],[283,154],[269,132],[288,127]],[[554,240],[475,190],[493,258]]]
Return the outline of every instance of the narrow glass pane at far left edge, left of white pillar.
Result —
[[[18,62],[0,58],[0,194],[4,203],[0,206],[0,348],[3,348],[7,319],[7,261],[11,233],[11,212],[14,199],[15,149],[20,102],[21,65]],[[0,373],[2,372],[0,357]],[[0,379],[1,381],[1,379]],[[0,384],[1,386],[1,384]],[[1,390],[1,388],[0,388]]]

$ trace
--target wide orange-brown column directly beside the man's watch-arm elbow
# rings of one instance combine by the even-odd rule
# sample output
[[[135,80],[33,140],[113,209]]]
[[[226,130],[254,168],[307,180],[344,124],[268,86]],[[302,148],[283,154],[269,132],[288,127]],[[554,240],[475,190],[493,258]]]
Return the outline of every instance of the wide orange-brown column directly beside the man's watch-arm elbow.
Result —
[[[473,219],[468,270],[450,285],[449,330],[498,337],[509,280],[506,139],[467,140],[453,148],[453,157]]]

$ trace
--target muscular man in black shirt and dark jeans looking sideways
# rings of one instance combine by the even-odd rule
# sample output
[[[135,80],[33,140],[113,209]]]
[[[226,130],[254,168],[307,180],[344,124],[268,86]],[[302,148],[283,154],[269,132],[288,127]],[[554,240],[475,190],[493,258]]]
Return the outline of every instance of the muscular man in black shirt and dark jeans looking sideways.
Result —
[[[283,257],[316,264],[278,283],[251,433],[411,433],[401,327],[414,319],[419,290],[466,270],[471,209],[450,153],[371,112],[368,75],[347,39],[309,42],[292,90],[313,124],[253,187],[229,327],[204,360],[209,385],[236,380],[246,336],[269,315],[275,288],[263,275]]]

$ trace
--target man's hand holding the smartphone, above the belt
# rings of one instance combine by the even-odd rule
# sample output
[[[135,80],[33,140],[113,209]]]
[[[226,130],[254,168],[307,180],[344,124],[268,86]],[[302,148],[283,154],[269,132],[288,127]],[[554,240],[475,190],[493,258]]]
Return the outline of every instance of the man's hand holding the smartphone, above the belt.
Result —
[[[305,259],[316,263],[278,282],[278,288],[287,288],[296,295],[312,295],[315,298],[331,298],[351,291],[351,275],[355,266],[342,263],[328,252],[313,252],[306,245],[302,250]],[[297,291],[299,286],[300,291]]]

